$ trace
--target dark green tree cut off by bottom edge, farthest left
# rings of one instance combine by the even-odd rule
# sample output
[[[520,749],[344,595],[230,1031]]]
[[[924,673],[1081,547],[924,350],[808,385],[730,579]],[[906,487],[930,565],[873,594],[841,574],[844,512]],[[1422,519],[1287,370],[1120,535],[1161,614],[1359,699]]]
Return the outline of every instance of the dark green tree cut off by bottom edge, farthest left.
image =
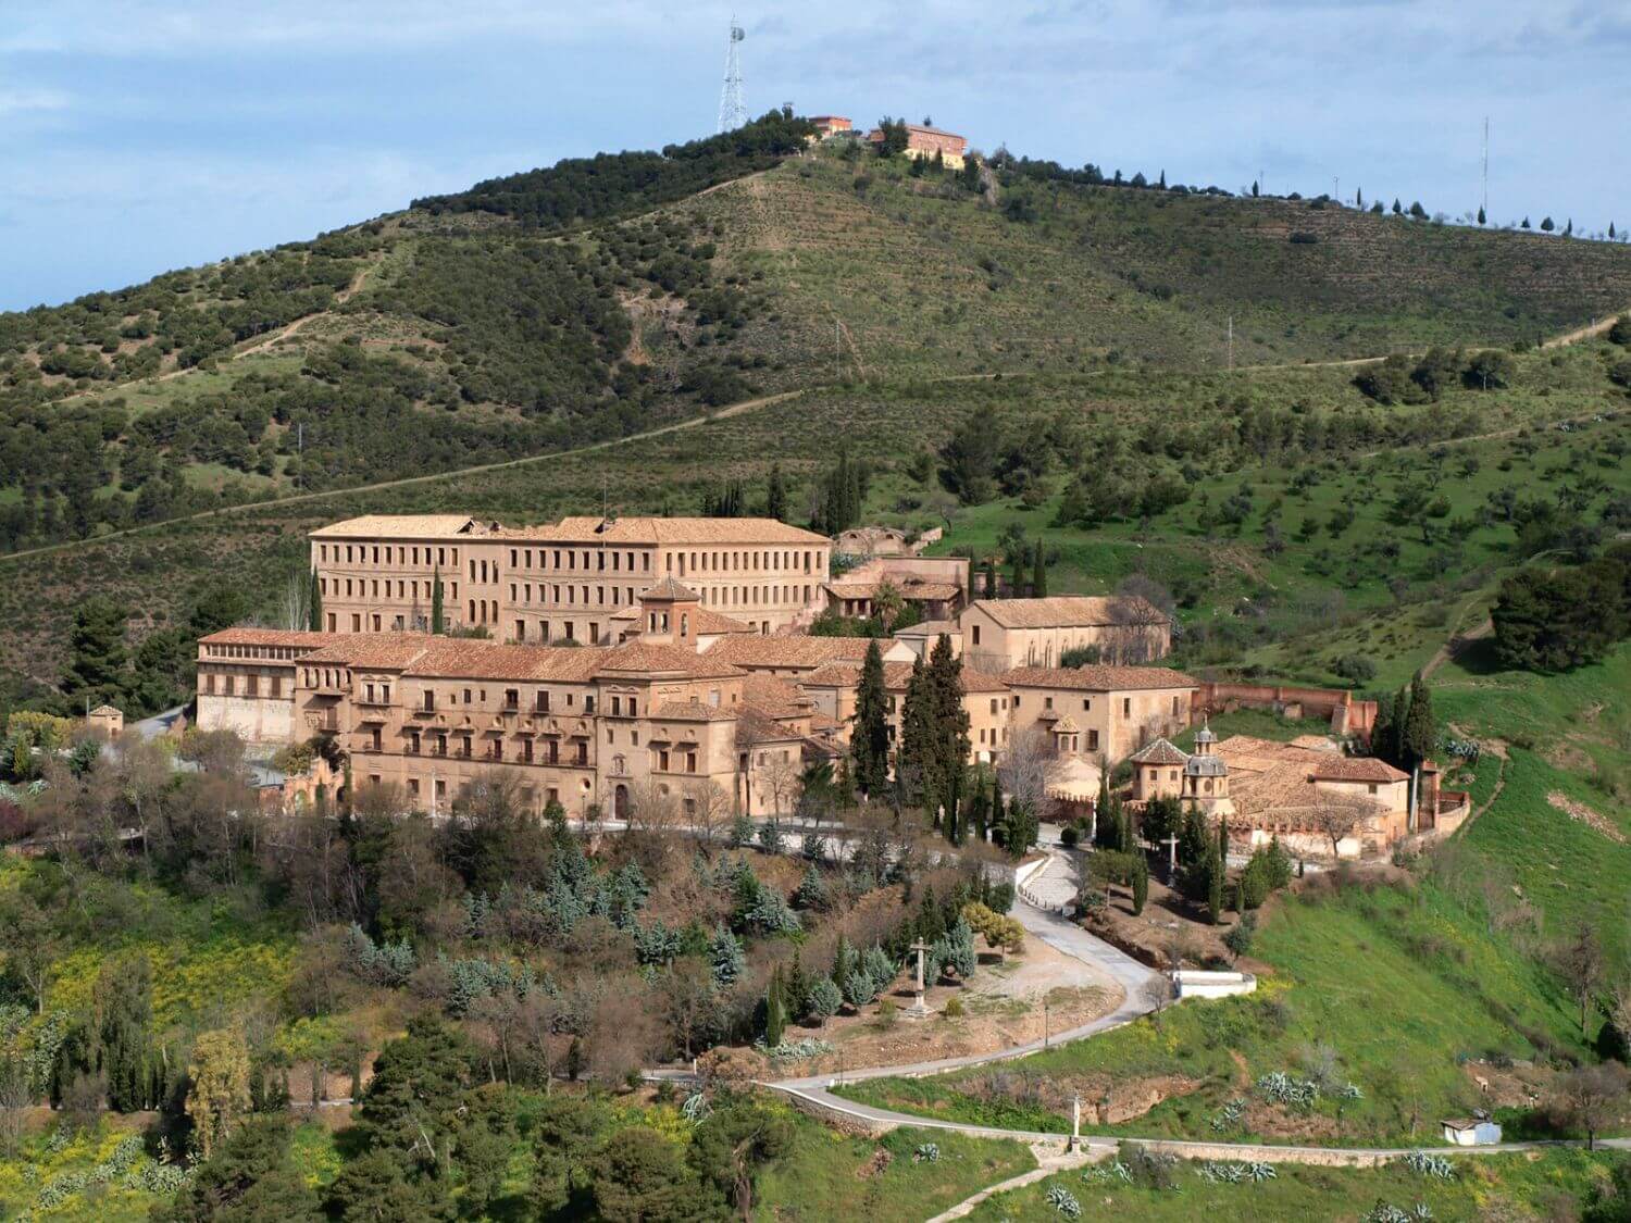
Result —
[[[153,1210],[157,1223],[321,1223],[316,1194],[290,1158],[294,1125],[285,1115],[250,1117],[197,1166],[175,1200]]]

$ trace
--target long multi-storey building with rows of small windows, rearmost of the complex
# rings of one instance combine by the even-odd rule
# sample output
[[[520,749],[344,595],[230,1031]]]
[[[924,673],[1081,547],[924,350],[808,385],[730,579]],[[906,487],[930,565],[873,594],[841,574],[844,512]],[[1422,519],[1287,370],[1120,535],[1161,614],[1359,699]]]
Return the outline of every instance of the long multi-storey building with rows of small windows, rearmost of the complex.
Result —
[[[329,633],[424,633],[440,602],[445,628],[538,644],[617,641],[620,613],[664,577],[775,633],[820,608],[832,558],[824,535],[773,519],[370,515],[310,538]]]

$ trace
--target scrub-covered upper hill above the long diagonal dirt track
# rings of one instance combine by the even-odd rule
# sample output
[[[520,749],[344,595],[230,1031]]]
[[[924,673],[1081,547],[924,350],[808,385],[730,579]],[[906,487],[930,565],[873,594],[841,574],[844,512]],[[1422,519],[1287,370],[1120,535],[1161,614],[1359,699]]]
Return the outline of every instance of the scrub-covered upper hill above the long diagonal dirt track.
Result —
[[[0,550],[568,450],[789,388],[1515,344],[1631,251],[1324,201],[959,176],[778,113],[0,315]]]

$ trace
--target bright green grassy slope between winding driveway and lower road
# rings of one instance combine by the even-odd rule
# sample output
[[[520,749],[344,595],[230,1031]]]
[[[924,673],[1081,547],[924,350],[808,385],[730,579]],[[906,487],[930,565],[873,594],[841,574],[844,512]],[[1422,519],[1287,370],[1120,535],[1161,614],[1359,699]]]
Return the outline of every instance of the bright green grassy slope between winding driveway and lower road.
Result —
[[[1558,983],[1437,882],[1288,900],[1272,912],[1253,956],[1274,969],[1256,995],[1186,1003],[1160,1021],[1013,1066],[873,1080],[842,1094],[951,1120],[1067,1132],[1073,1091],[1098,1099],[1112,1083],[1176,1075],[1194,1091],[1096,1130],[1409,1143],[1430,1141],[1437,1117],[1478,1104],[1461,1060],[1579,1050],[1572,1004]],[[1251,1088],[1261,1075],[1305,1075],[1321,1062],[1364,1097],[1342,1107],[1321,1099],[1308,1114],[1277,1119]],[[1246,1119],[1215,1130],[1212,1119],[1235,1097],[1251,1101]]]

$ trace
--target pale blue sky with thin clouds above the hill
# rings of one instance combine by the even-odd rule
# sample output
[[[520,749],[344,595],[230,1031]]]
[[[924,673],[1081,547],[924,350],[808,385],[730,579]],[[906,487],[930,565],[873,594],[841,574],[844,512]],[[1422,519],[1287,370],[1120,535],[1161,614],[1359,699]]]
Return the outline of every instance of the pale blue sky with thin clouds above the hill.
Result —
[[[749,111],[1631,225],[1631,0],[737,0]],[[731,3],[0,0],[0,310],[714,130]]]

